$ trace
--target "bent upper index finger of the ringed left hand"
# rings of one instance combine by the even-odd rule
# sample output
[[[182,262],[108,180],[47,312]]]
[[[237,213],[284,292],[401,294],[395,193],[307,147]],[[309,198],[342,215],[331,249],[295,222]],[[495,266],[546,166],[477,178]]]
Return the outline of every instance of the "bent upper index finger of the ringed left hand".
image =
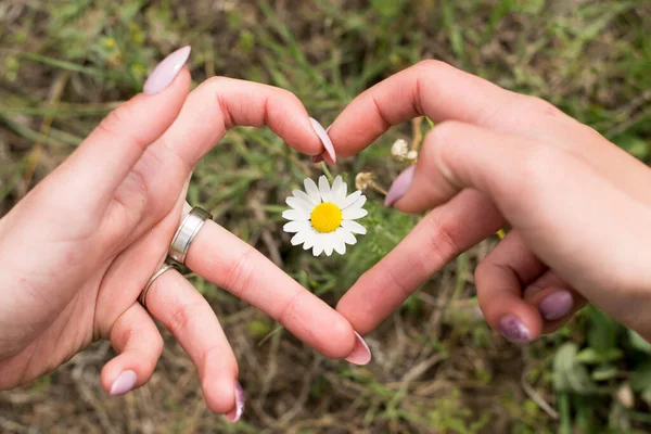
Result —
[[[288,90],[227,77],[213,77],[194,89],[174,124],[136,165],[137,176],[118,190],[116,209],[125,204],[139,209],[128,214],[140,228],[149,228],[169,212],[196,163],[235,126],[268,126],[299,152],[324,152],[305,106]],[[146,200],[133,194],[141,191]],[[148,206],[144,213],[143,204]],[[138,230],[136,233],[140,233]]]

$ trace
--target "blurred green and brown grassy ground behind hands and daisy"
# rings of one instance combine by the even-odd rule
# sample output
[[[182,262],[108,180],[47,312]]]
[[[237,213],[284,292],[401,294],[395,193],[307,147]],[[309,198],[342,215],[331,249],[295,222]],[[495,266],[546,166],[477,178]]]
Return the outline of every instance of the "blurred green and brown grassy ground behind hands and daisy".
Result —
[[[0,0],[0,215],[52,170],[157,61],[191,44],[195,84],[225,75],[294,92],[329,125],[356,94],[422,59],[541,97],[648,162],[651,2],[588,0]],[[445,84],[443,84],[445,86]],[[333,169],[381,187],[406,167],[392,129]],[[508,169],[508,168],[507,168]],[[369,234],[315,259],[282,233],[284,197],[321,167],[267,129],[238,128],[205,157],[190,201],[334,306],[418,221],[369,195]],[[617,228],[603,233],[604,248]],[[368,336],[373,361],[320,357],[258,310],[193,278],[240,361],[243,421],[203,403],[193,366],[166,336],[150,384],[100,388],[112,357],[93,345],[29,386],[0,393],[1,433],[643,433],[651,344],[586,308],[534,345],[506,343],[477,310],[473,269],[498,242],[461,255]]]

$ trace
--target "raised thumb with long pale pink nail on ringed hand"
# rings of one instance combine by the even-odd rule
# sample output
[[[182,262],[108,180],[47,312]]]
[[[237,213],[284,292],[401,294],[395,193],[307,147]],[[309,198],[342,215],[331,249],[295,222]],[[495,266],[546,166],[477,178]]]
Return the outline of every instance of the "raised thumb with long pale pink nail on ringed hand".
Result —
[[[110,113],[52,174],[52,184],[86,212],[103,212],[142,154],[177,118],[190,89],[190,73],[183,67],[189,55],[190,47],[183,47],[165,58],[144,93]]]

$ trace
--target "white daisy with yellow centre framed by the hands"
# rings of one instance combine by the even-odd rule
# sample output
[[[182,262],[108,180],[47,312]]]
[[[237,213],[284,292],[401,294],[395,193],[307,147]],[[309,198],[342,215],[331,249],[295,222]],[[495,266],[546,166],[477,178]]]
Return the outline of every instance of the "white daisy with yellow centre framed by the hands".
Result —
[[[361,191],[346,195],[347,186],[341,176],[334,179],[332,188],[324,176],[319,178],[318,187],[309,178],[304,183],[305,192],[294,190],[286,200],[292,209],[282,213],[291,220],[283,230],[295,233],[292,245],[303,244],[315,256],[323,252],[330,256],[332,251],[345,254],[346,244],[357,243],[354,234],[366,233],[363,226],[354,221],[368,214],[362,208],[366,196]]]

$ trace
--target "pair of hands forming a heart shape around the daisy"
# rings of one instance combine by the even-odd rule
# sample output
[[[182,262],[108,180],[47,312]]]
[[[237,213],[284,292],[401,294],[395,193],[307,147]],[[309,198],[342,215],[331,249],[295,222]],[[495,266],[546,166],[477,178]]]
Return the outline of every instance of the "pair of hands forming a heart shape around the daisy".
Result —
[[[227,78],[189,93],[182,63],[171,69],[157,68],[149,94],[113,112],[0,220],[0,388],[98,339],[118,353],[102,370],[104,388],[140,386],[163,346],[151,314],[196,365],[209,408],[240,417],[238,365],[204,298],[176,271],[152,286],[149,314],[137,297],[166,256],[194,165],[229,128],[268,125],[296,150],[332,157],[291,93]],[[431,61],[359,95],[329,133],[336,154],[349,156],[418,115],[441,125],[387,202],[434,210],[336,311],[214,222],[194,240],[188,266],[324,356],[363,363],[370,354],[355,331],[371,331],[447,261],[509,222],[513,230],[476,270],[492,327],[531,342],[587,299],[651,337],[643,315],[651,170],[540,100]]]

